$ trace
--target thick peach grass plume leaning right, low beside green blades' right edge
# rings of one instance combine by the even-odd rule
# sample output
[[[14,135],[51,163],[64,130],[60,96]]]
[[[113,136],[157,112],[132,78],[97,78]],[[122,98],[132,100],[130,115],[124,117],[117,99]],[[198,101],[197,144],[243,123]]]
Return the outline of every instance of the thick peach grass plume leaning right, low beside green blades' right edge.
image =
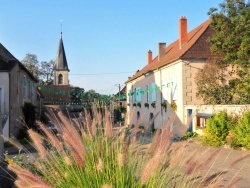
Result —
[[[142,171],[141,175],[142,184],[146,184],[149,178],[154,175],[160,164],[161,159],[162,156],[158,153],[148,161],[148,163],[146,164],[145,168]]]

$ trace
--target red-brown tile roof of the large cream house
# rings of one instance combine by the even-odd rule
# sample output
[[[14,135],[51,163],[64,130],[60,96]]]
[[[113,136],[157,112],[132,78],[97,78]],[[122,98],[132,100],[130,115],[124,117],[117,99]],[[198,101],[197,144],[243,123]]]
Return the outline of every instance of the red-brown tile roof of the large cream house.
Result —
[[[209,50],[209,44],[206,41],[207,37],[205,39],[202,39],[199,43],[199,47],[195,48],[196,50],[199,49],[199,52],[196,52],[194,49],[192,50],[193,46],[198,42],[198,40],[201,39],[201,36],[209,29],[209,24],[211,22],[211,19],[208,19],[192,31],[188,33],[188,41],[186,44],[184,44],[181,48],[179,46],[179,39],[175,42],[171,43],[169,46],[165,48],[166,54],[165,56],[158,61],[158,56],[156,56],[152,63],[147,64],[144,68],[142,68],[140,71],[137,71],[135,75],[133,75],[129,80],[126,81],[130,82],[143,74],[146,74],[149,71],[156,70],[158,68],[161,68],[165,65],[168,65],[178,59],[206,59],[208,56],[211,56],[211,52]],[[211,30],[211,28],[210,28]],[[211,32],[208,32],[211,34]]]

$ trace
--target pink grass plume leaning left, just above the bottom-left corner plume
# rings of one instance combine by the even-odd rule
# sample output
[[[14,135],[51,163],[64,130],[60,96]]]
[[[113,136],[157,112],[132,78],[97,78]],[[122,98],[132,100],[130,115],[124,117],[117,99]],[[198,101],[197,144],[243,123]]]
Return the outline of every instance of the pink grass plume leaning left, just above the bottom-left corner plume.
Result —
[[[45,158],[48,152],[43,146],[43,138],[32,129],[29,129],[28,133],[29,133],[30,138],[33,140],[33,143],[35,145],[36,150],[39,153],[39,156],[41,158]]]

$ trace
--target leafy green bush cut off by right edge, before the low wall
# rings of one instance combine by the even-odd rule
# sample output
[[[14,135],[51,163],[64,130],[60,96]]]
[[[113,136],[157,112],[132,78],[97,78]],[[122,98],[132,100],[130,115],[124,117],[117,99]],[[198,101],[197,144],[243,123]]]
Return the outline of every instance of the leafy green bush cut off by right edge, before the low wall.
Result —
[[[234,146],[250,149],[250,111],[243,114],[239,124],[231,131]]]

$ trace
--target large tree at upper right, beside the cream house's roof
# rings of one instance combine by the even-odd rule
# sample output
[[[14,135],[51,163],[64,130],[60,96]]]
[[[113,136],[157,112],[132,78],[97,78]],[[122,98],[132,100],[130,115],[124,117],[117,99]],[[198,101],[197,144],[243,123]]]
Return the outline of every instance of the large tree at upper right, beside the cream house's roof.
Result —
[[[215,64],[207,65],[206,71],[201,70],[197,74],[197,96],[203,98],[205,103],[248,104],[250,103],[250,2],[225,0],[219,5],[219,9],[211,8],[208,14],[212,18],[210,25],[214,30],[208,41],[217,59]],[[229,67],[233,67],[235,71],[233,77]],[[210,71],[214,71],[214,83],[211,83],[213,72],[209,77]],[[220,80],[227,80],[227,85],[221,84]]]

